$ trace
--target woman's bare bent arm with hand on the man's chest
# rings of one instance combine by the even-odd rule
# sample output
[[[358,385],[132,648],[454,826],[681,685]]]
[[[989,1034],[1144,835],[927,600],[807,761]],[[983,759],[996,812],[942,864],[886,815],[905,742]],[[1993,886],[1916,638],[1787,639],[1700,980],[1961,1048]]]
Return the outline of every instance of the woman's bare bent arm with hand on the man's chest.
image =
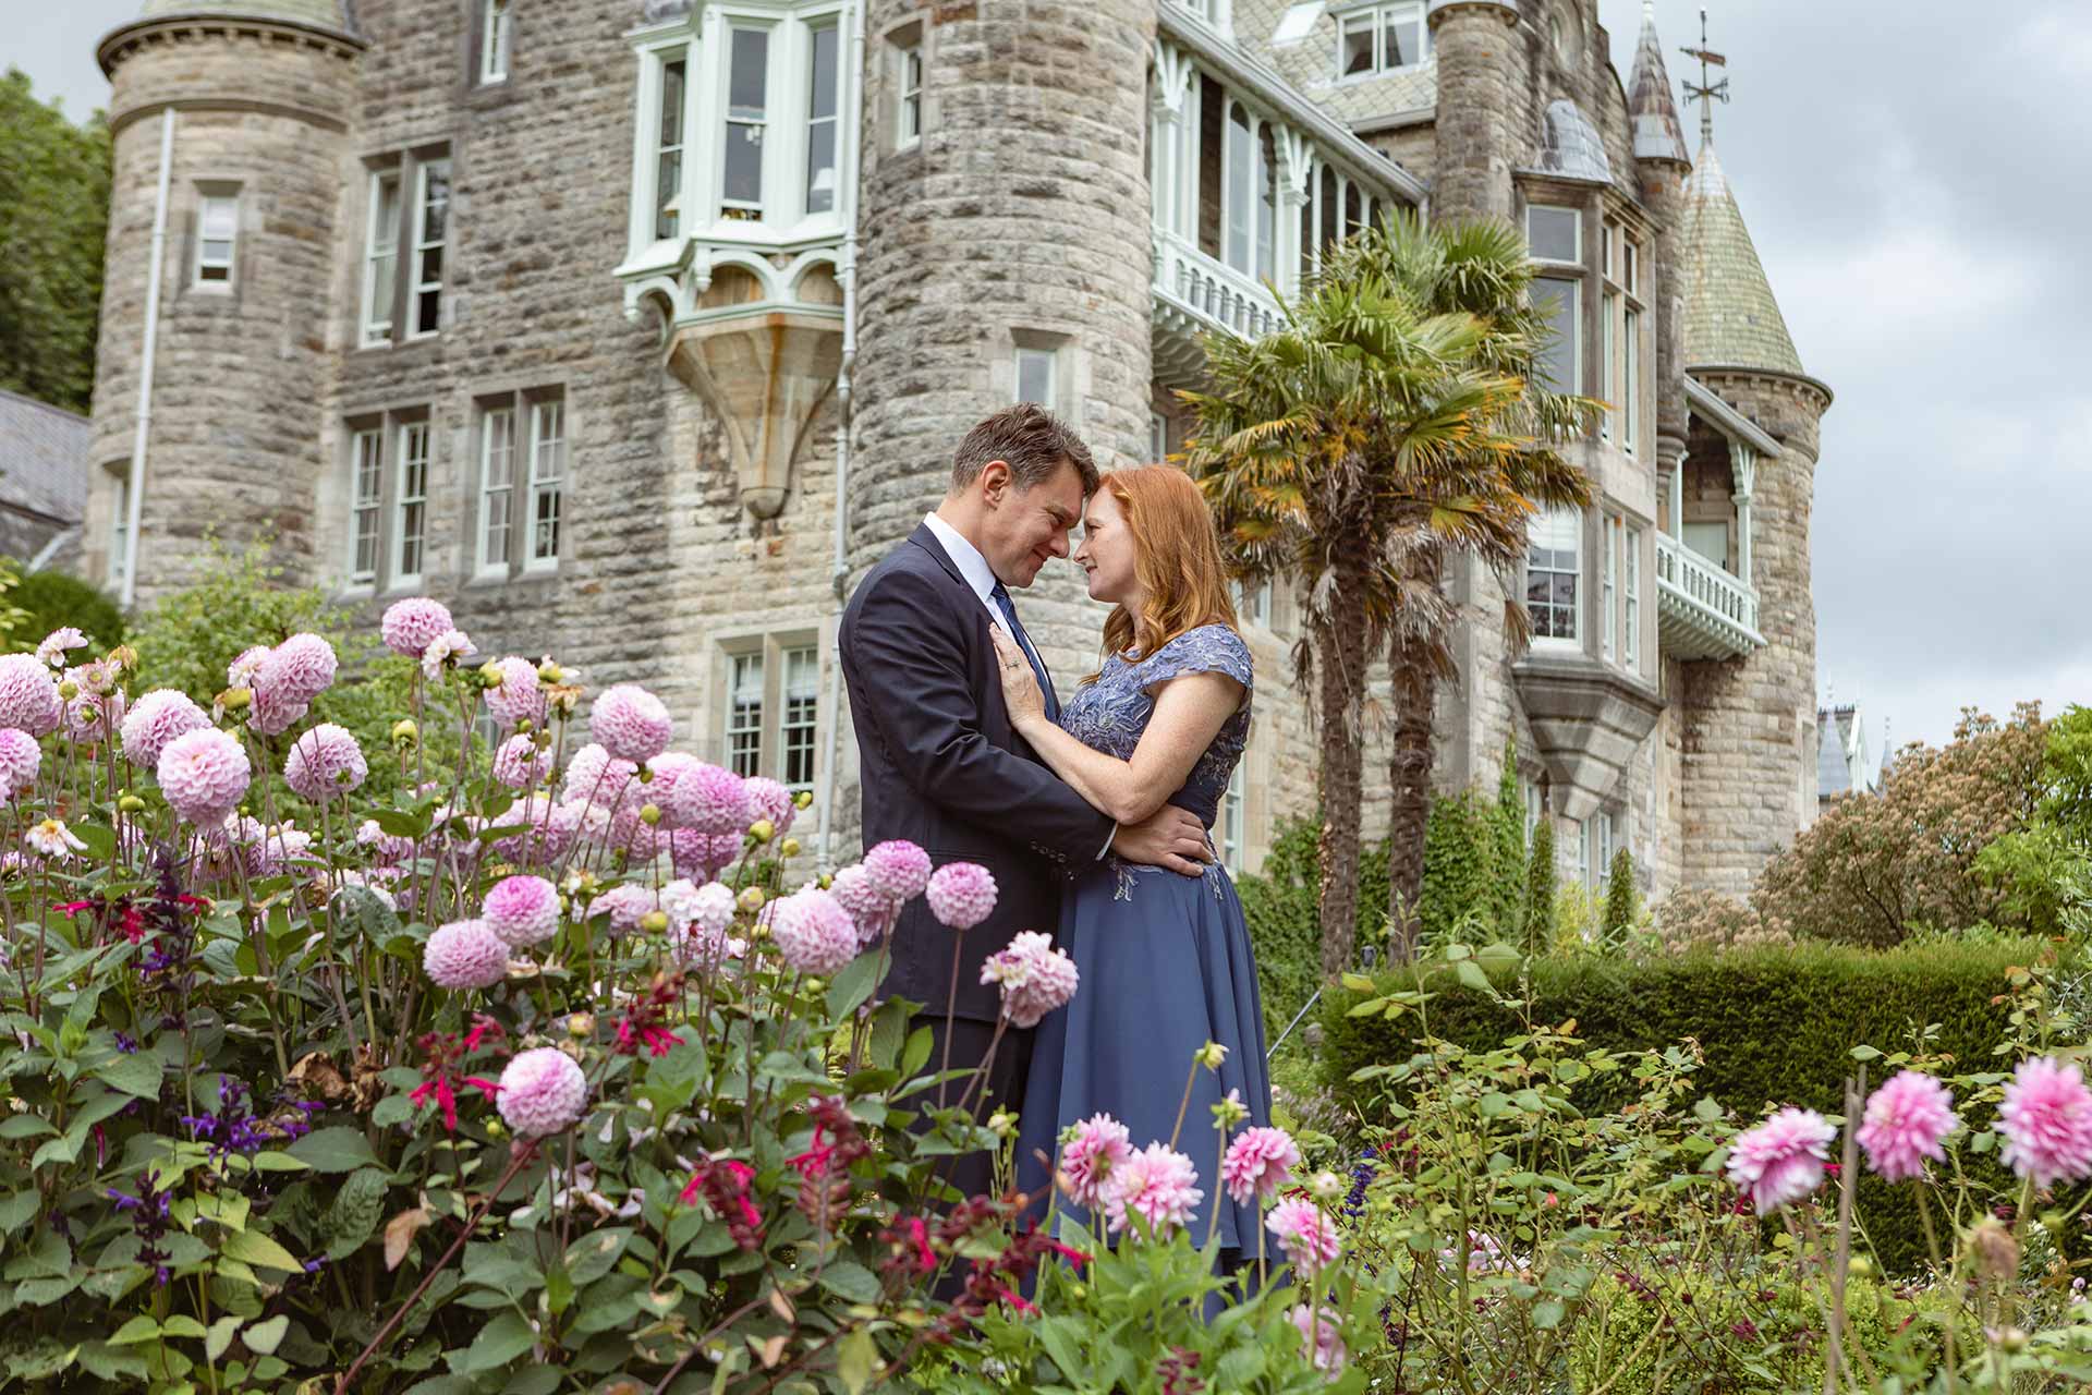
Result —
[[[1184,788],[1190,768],[1243,705],[1243,684],[1226,673],[1172,678],[1153,690],[1155,713],[1149,717],[1149,728],[1140,734],[1134,757],[1121,761],[1082,745],[1048,722],[1031,663],[1002,625],[994,625],[990,634],[996,653],[1002,655],[1000,673],[1010,726],[1092,809],[1121,824],[1138,824]]]

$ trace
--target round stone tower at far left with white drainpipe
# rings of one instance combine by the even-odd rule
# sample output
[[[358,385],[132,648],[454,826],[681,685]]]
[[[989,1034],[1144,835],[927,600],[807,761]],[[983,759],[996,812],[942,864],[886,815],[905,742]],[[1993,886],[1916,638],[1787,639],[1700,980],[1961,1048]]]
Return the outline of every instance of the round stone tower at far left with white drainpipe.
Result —
[[[123,523],[88,529],[86,567],[126,600],[113,554],[151,600],[213,527],[274,529],[291,573],[312,571],[360,52],[335,0],[149,0],[100,42],[115,167],[88,510]],[[138,535],[134,468],[146,496],[178,500]]]

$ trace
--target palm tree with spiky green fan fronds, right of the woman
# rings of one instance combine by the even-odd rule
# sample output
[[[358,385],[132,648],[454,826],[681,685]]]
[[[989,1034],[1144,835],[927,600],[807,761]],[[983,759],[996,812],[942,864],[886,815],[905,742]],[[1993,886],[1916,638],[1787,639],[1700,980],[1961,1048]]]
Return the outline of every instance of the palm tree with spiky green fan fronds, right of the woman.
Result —
[[[1349,966],[1358,918],[1368,667],[1397,636],[1406,646],[1439,636],[1446,650],[1452,609],[1420,577],[1450,542],[1494,535],[1498,481],[1519,458],[1542,456],[1548,498],[1588,491],[1521,429],[1525,379],[1494,366],[1506,330],[1425,303],[1397,268],[1333,255],[1299,301],[1280,305],[1278,330],[1209,337],[1209,391],[1180,393],[1197,414],[1184,464],[1238,575],[1287,575],[1299,590],[1293,665],[1322,740],[1326,975]]]

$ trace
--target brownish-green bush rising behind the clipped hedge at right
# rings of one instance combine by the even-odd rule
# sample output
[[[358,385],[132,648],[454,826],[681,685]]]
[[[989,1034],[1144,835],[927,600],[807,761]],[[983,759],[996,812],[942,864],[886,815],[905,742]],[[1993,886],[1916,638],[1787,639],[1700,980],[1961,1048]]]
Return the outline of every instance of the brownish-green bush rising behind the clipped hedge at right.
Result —
[[[2044,795],[2048,724],[2038,703],[2010,722],[1964,709],[1946,749],[1912,742],[1879,795],[1830,801],[1759,878],[1753,901],[1795,935],[1893,945],[1912,929],[1998,922],[2006,893],[1975,874],[1983,849],[2027,828]],[[2025,912],[2027,901],[2015,901]]]

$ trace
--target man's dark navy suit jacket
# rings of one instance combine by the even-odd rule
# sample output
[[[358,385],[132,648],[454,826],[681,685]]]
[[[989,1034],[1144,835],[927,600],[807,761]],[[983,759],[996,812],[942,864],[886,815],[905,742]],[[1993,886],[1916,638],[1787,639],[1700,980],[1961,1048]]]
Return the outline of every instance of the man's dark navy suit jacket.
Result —
[[[967,931],[958,970],[958,1016],[994,1021],[1000,996],[981,983],[981,960],[1017,931],[1059,929],[1065,872],[1088,868],[1113,824],[1010,728],[987,609],[929,525],[858,584],[841,655],[864,845],[910,839],[937,866],[979,862],[996,876],[996,914]],[[952,935],[920,897],[910,901],[881,991],[943,1016]]]

